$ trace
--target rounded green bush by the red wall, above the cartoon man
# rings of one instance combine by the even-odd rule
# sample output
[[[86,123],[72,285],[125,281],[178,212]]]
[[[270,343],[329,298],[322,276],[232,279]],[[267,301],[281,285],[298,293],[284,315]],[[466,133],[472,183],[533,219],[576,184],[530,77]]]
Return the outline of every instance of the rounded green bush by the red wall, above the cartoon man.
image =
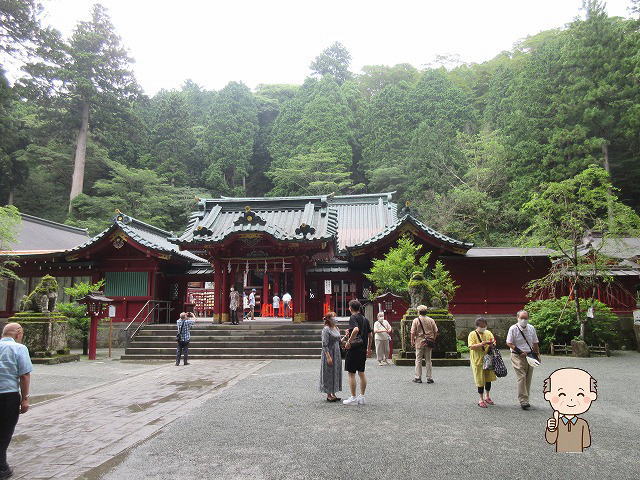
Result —
[[[566,306],[566,308],[565,308]],[[594,318],[585,326],[584,339],[589,345],[608,343],[615,347],[618,343],[618,317],[611,308],[598,300],[580,299],[580,311],[586,314],[593,306]],[[568,297],[536,300],[525,307],[531,324],[536,327],[540,348],[549,351],[551,343],[571,343],[580,335],[580,323],[576,320],[576,304]]]

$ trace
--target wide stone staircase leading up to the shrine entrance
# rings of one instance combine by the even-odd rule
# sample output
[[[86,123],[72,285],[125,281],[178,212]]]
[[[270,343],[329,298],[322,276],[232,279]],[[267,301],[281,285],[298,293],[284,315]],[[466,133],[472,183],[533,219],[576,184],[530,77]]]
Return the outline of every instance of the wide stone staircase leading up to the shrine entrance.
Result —
[[[320,358],[321,323],[202,325],[191,329],[192,359]],[[343,330],[345,325],[340,324]],[[127,345],[122,360],[172,360],[175,324],[146,325]]]

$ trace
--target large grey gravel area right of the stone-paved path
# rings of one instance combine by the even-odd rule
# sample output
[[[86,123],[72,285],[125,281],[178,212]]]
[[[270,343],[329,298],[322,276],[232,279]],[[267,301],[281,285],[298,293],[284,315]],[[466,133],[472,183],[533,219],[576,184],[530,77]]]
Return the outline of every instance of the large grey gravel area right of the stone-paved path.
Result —
[[[497,405],[480,409],[465,367],[436,368],[436,383],[420,385],[411,383],[410,367],[369,360],[368,404],[350,407],[326,403],[317,392],[318,362],[274,361],[165,427],[100,478],[637,479],[639,365],[640,354],[632,352],[545,357],[534,375],[534,408],[523,411],[510,364],[492,390]],[[551,409],[542,381],[564,366],[588,370],[599,384],[585,415],[593,446],[583,455],[557,454],[544,440]]]

